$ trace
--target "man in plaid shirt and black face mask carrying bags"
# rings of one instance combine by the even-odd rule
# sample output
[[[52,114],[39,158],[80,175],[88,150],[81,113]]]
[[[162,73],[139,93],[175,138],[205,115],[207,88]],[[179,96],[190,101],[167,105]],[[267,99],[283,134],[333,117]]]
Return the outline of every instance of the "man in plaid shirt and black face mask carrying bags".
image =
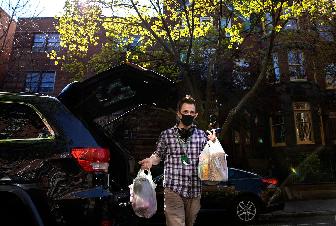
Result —
[[[198,157],[208,140],[208,135],[193,123],[197,117],[195,100],[186,95],[177,111],[179,123],[161,133],[155,152],[139,162],[141,170],[149,170],[163,158],[164,162],[164,212],[167,226],[192,226],[201,208],[202,183],[198,177]]]

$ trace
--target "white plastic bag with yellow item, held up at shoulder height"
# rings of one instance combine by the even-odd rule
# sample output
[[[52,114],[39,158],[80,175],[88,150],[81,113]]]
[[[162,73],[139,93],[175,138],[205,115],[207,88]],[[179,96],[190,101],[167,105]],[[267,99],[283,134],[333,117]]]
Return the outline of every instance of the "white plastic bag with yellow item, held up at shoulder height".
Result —
[[[199,156],[199,178],[208,185],[228,181],[226,156],[217,137],[214,143],[209,140]]]

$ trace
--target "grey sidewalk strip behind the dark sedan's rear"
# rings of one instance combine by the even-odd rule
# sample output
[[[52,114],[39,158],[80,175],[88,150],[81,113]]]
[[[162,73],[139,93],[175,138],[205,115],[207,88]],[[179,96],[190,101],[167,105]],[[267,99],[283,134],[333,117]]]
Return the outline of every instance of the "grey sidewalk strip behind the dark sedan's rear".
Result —
[[[335,215],[336,199],[286,201],[282,211],[260,215],[262,219]]]

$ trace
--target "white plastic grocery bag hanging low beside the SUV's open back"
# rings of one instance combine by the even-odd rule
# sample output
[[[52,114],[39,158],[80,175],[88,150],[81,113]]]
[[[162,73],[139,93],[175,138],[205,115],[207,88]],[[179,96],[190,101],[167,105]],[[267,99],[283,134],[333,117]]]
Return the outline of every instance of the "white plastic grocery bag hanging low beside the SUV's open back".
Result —
[[[156,213],[156,184],[153,182],[151,170],[146,175],[140,170],[130,188],[130,200],[134,213],[139,217],[150,218]]]

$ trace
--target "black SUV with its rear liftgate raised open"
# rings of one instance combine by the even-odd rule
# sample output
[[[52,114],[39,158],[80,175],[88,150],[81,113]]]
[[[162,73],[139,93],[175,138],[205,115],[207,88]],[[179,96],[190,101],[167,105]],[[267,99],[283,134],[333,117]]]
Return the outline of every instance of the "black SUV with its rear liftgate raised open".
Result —
[[[176,85],[123,63],[57,98],[0,93],[1,225],[136,225],[133,156],[95,119],[139,104],[176,109]]]

